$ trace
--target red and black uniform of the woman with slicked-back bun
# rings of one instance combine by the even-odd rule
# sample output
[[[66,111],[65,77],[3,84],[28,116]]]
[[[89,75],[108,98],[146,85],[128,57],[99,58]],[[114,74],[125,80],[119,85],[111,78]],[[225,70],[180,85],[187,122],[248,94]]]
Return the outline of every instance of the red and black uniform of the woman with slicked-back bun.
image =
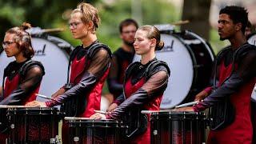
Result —
[[[166,63],[156,58],[146,65],[134,62],[126,70],[124,92],[116,100],[121,104],[113,112],[106,114],[106,118],[119,119],[127,123],[141,121],[139,122],[141,126],[134,127],[134,134],[130,136],[128,143],[150,143],[150,123],[147,122],[150,120],[150,115],[142,115],[141,110],[160,109],[162,94],[166,90],[169,75],[170,70]],[[125,115],[127,119],[123,119]],[[143,118],[146,118],[146,121]],[[144,125],[143,121],[146,122]],[[133,130],[129,131],[133,132]]]

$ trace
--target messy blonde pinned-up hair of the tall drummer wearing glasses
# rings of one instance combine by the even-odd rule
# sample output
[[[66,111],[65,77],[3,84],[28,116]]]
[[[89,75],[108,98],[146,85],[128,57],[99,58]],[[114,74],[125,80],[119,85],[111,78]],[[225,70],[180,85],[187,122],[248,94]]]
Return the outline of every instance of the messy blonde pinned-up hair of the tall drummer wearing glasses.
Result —
[[[82,17],[81,17],[82,22],[85,22],[85,23],[88,23],[90,21],[93,22],[94,32],[98,29],[101,19],[99,18],[98,10],[94,6],[86,2],[81,2],[78,4],[77,8],[72,11],[71,15],[74,13],[82,14]]]

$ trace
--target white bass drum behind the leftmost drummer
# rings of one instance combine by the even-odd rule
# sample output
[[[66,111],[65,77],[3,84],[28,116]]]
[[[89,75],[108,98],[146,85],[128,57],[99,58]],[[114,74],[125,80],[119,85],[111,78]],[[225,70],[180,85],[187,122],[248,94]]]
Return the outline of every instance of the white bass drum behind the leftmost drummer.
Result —
[[[70,50],[74,48],[64,40],[50,35],[41,37],[32,36],[32,46],[35,54],[32,59],[42,62],[46,74],[42,78],[39,94],[50,96],[66,83],[68,57]],[[6,66],[14,61],[14,58],[7,58],[6,53],[0,54],[0,82]]]

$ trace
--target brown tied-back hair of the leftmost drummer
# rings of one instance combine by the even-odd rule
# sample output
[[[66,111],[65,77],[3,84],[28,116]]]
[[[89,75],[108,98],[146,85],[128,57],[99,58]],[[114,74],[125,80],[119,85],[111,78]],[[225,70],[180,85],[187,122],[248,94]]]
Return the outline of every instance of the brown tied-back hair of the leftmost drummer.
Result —
[[[32,58],[34,56],[34,49],[31,44],[31,36],[27,29],[30,29],[30,23],[23,22],[20,27],[13,27],[6,31],[6,34],[15,34],[14,42],[17,43],[18,49],[21,50],[25,58]]]

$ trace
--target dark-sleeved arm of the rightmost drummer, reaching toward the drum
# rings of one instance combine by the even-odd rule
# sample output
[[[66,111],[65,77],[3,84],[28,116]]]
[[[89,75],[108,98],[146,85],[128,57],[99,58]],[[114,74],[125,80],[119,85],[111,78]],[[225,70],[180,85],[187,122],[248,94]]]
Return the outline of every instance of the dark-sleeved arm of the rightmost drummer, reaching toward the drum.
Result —
[[[234,94],[239,88],[248,82],[256,74],[256,52],[252,51],[242,57],[238,62],[238,70],[231,74],[230,78],[218,87],[212,94],[210,94],[204,102],[199,102],[194,106],[194,111],[202,111],[210,106],[214,106],[215,103],[222,101],[226,96]]]

